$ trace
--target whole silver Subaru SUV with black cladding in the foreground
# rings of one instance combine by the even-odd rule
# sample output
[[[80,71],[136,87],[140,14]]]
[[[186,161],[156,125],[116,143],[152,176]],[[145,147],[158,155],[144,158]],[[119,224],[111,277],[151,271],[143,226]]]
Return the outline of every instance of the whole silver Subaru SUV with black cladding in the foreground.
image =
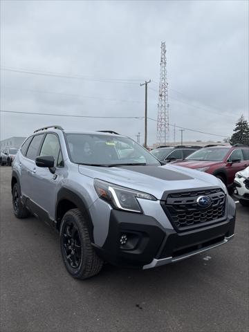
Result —
[[[235,205],[203,172],[163,165],[113,131],[38,129],[12,165],[15,216],[30,213],[59,231],[75,278],[116,266],[154,268],[234,236]]]

